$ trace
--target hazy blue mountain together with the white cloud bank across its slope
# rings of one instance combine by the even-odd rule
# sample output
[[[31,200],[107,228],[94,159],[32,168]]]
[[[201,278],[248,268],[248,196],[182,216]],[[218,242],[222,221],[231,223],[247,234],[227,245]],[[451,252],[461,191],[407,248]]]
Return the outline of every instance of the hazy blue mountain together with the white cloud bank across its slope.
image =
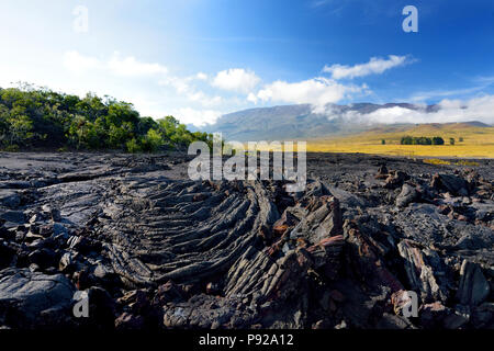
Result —
[[[493,97],[467,102],[442,101],[435,105],[409,103],[327,104],[317,111],[311,104],[258,107],[226,114],[205,131],[223,133],[229,140],[310,139],[348,135],[385,125],[483,122],[494,124]]]

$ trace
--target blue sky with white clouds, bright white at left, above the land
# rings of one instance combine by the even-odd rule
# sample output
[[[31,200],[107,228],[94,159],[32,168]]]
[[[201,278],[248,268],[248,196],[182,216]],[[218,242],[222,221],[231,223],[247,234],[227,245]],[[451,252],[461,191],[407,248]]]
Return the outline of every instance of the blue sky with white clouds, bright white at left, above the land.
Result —
[[[417,33],[402,29],[409,4]],[[440,103],[438,122],[494,123],[490,0],[3,0],[0,43],[0,87],[92,91],[195,125],[355,102]]]

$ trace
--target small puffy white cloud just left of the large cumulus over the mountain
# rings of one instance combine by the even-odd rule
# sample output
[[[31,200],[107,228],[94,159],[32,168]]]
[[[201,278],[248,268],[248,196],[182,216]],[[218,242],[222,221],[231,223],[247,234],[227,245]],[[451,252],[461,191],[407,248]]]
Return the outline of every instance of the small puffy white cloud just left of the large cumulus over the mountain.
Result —
[[[249,93],[260,82],[260,78],[251,70],[231,68],[217,72],[211,84],[215,88]]]

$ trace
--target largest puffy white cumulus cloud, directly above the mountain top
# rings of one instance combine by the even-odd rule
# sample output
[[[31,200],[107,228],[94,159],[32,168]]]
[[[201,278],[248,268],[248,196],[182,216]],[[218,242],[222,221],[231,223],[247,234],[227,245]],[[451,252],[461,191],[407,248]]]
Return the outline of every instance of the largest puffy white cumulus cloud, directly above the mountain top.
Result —
[[[274,81],[267,84],[255,95],[248,95],[248,100],[256,102],[283,102],[283,103],[310,103],[322,111],[328,103],[335,103],[350,93],[362,92],[367,89],[362,86],[345,86],[335,80],[318,77],[300,82]]]

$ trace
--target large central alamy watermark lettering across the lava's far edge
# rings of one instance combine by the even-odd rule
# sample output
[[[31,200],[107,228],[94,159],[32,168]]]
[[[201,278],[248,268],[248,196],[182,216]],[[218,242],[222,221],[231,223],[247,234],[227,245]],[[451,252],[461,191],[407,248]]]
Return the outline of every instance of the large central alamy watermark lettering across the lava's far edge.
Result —
[[[307,179],[305,141],[248,141],[246,144],[228,141],[225,144],[221,133],[216,133],[212,150],[206,143],[194,141],[189,146],[188,154],[198,155],[189,163],[188,173],[191,180],[287,180],[290,182],[287,184],[288,192],[305,190]],[[272,155],[272,169],[270,155]],[[223,162],[223,156],[229,156],[229,158]]]

